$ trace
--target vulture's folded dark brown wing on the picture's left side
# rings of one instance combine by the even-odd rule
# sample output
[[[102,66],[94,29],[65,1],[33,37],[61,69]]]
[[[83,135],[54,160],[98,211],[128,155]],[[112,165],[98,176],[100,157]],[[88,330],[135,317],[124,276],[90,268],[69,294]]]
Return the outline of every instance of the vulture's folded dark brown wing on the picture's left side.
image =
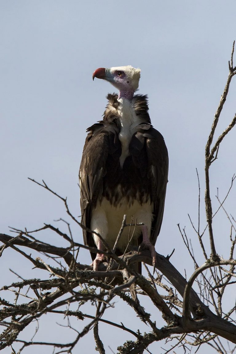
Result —
[[[119,162],[121,145],[115,122],[99,122],[87,129],[89,131],[82,154],[80,179],[81,224],[90,229],[92,210],[103,193],[103,177],[106,175],[106,162],[113,155]],[[83,229],[84,244],[96,247],[91,232]],[[92,259],[96,254],[91,253]]]

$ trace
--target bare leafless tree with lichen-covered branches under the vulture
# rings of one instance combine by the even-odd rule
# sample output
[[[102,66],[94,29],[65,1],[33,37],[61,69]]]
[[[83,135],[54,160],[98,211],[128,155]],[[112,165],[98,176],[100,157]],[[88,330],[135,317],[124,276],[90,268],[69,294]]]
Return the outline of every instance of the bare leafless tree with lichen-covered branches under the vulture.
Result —
[[[14,345],[20,343],[21,347],[17,349],[17,353],[22,353],[26,347],[33,345],[50,346],[53,353],[74,353],[74,348],[80,338],[86,336],[93,329],[96,348],[99,353],[105,353],[102,338],[99,336],[99,323],[104,322],[114,327],[114,330],[123,330],[129,336],[133,336],[133,340],[128,340],[117,348],[117,353],[120,354],[138,354],[143,353],[144,350],[149,352],[149,344],[162,339],[166,339],[166,348],[163,349],[165,353],[170,351],[174,353],[174,348],[179,346],[183,348],[184,352],[190,352],[193,346],[197,351],[203,344],[211,346],[218,353],[234,352],[236,348],[236,306],[234,303],[226,311],[224,304],[225,301],[227,302],[226,289],[230,287],[235,289],[236,284],[236,261],[234,259],[236,221],[226,211],[224,202],[230,193],[235,176],[231,179],[231,185],[225,198],[220,200],[217,195],[219,207],[214,212],[209,178],[209,171],[212,163],[217,159],[220,143],[236,124],[235,115],[223,133],[217,138],[215,137],[215,130],[229,92],[231,79],[236,75],[236,67],[233,65],[234,44],[229,61],[229,76],[206,143],[205,209],[207,224],[203,230],[200,228],[199,178],[197,227],[189,216],[205,257],[205,263],[199,265],[185,229],[178,225],[187,252],[189,252],[195,267],[195,272],[188,281],[170,262],[172,254],[167,257],[156,254],[157,270],[152,275],[146,267],[146,264],[152,264],[149,251],[137,249],[126,252],[120,257],[116,256],[114,250],[110,250],[105,253],[107,263],[101,263],[99,270],[94,272],[91,265],[79,263],[81,249],[94,250],[75,242],[71,223],[80,230],[82,225],[79,219],[70,212],[67,199],[59,196],[44,181],[39,183],[32,180],[64,203],[70,223],[61,219],[67,225],[67,232],[51,224],[44,224],[42,228],[33,231],[12,229],[16,233],[15,237],[0,234],[0,241],[3,244],[0,247],[0,257],[3,252],[8,252],[11,248],[15,251],[16,256],[27,258],[33,264],[34,269],[42,270],[40,279],[21,278],[18,282],[1,287],[3,296],[0,298],[0,324],[2,327],[0,350],[10,346],[12,352],[16,353]],[[213,143],[213,141],[215,142]],[[230,223],[231,247],[226,259],[221,258],[217,253],[212,228],[215,215],[220,209],[224,210],[225,217]],[[132,223],[135,224],[131,221]],[[126,216],[124,216],[118,238],[123,229],[131,224],[126,223]],[[136,224],[136,227],[140,227],[140,225]],[[56,247],[41,241],[41,234],[45,230],[62,238],[65,246]],[[207,246],[207,238],[205,237],[203,240],[203,235],[206,233],[209,235],[210,249]],[[144,262],[148,274],[146,278],[132,270],[130,265],[135,262]],[[3,264],[1,269],[3,269]],[[15,301],[12,303],[7,301],[9,292],[15,294]],[[108,308],[114,307],[113,311],[116,311],[115,297],[120,298],[137,314],[137,321],[133,328],[105,319],[104,313]],[[155,315],[151,316],[145,310],[147,298],[150,298],[154,307],[152,313],[155,314],[155,308],[157,308],[165,321],[165,326],[162,328],[156,325]],[[91,307],[93,315],[88,315],[86,310],[83,311],[83,307],[90,303],[94,305]],[[75,333],[73,341],[50,343],[36,342],[34,338],[31,338],[30,341],[18,338],[21,332],[24,333],[26,327],[35,321],[39,322],[40,318],[46,314],[61,314],[62,318],[67,320],[67,327]],[[87,319],[87,324],[82,331],[78,331],[71,325],[72,318],[81,321]],[[137,330],[140,325],[139,321],[148,325],[149,332],[142,333]],[[112,349],[110,350],[113,352]]]

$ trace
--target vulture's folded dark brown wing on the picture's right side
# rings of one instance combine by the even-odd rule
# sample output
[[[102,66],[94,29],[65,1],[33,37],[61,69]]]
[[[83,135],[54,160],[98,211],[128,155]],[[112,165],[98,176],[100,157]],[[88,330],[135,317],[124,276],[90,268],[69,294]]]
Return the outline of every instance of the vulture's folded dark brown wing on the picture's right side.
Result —
[[[152,221],[152,230],[150,241],[155,245],[157,236],[160,233],[165,196],[166,185],[168,182],[168,151],[163,136],[154,129],[151,124],[140,124],[137,133],[132,137],[129,149],[131,150],[133,160],[147,173],[150,181],[150,196],[154,205],[154,218]],[[140,154],[145,150],[144,155]],[[140,158],[138,158],[140,156]],[[142,167],[143,165],[143,167]]]

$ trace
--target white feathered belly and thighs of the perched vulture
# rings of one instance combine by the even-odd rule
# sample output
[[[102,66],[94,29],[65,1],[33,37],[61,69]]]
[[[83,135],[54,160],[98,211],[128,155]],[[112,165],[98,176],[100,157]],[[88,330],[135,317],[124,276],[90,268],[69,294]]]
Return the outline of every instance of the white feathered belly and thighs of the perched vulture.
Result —
[[[137,200],[134,200],[133,204],[131,206],[128,206],[127,199],[123,198],[121,203],[117,207],[114,207],[107,199],[104,198],[101,204],[98,203],[96,209],[94,209],[92,212],[90,227],[92,231],[99,233],[102,238],[104,238],[104,240],[108,243],[110,249],[113,249],[125,214],[127,216],[127,224],[131,223],[132,216],[133,223],[136,222],[136,218],[137,223],[144,223],[148,228],[148,233],[150,237],[152,212],[153,207],[150,201],[146,204],[140,205]],[[121,251],[124,251],[131,239],[131,236],[133,235],[131,244],[135,244],[135,240],[137,240],[140,234],[142,234],[140,226],[136,226],[136,228],[131,227],[130,230],[129,227],[125,227],[117,247]],[[93,237],[97,245],[99,238],[96,235],[93,235]]]

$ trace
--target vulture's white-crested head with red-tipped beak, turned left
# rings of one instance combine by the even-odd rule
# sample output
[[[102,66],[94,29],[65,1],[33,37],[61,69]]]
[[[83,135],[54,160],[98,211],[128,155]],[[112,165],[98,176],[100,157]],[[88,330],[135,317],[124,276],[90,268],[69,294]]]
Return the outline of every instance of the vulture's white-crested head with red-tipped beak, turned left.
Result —
[[[119,97],[132,98],[134,91],[138,89],[140,69],[131,65],[113,68],[98,68],[93,73],[94,78],[109,81],[119,91]]]

